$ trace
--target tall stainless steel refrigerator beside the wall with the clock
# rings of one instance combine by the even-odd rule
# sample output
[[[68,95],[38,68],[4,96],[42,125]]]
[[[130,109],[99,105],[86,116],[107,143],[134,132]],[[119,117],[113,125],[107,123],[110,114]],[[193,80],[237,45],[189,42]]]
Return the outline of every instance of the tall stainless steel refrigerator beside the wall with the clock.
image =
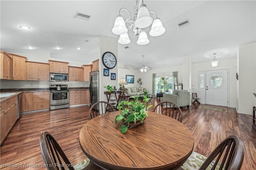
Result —
[[[99,101],[99,71],[90,72],[90,107]]]

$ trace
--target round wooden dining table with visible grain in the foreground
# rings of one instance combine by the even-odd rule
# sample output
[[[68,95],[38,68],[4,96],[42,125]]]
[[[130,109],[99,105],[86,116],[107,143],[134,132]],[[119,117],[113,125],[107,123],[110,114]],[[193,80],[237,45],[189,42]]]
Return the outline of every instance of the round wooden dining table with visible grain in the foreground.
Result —
[[[106,169],[177,169],[193,151],[192,133],[171,117],[148,111],[143,124],[122,134],[116,115],[118,111],[91,119],[79,134],[84,154]]]

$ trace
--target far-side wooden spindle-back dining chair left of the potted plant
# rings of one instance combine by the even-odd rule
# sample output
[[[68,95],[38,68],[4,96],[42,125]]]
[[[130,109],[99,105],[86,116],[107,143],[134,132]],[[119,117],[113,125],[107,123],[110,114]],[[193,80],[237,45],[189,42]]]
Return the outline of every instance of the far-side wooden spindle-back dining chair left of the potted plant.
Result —
[[[94,103],[90,108],[89,120],[98,115],[113,112],[113,111],[115,111],[115,109],[110,103],[108,103],[106,101],[98,101],[98,102]]]

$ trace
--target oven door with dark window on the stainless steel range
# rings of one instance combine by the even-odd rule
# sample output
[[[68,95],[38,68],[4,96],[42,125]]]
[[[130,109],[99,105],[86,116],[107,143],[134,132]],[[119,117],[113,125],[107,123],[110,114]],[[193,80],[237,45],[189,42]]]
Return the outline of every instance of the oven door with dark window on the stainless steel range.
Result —
[[[69,91],[50,91],[50,105],[69,103]]]

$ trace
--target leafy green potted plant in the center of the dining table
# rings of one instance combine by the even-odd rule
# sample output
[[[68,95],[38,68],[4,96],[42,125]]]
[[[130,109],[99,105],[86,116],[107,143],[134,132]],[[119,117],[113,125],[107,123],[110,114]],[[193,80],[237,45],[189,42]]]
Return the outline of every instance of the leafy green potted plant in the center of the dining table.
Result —
[[[133,97],[134,101],[121,101],[118,104],[117,109],[119,110],[119,115],[116,116],[116,123],[121,123],[121,132],[125,133],[128,127],[133,128],[141,123],[148,117],[147,111],[153,105],[147,106],[147,102],[150,98],[143,95],[143,103],[139,101],[139,96]]]

